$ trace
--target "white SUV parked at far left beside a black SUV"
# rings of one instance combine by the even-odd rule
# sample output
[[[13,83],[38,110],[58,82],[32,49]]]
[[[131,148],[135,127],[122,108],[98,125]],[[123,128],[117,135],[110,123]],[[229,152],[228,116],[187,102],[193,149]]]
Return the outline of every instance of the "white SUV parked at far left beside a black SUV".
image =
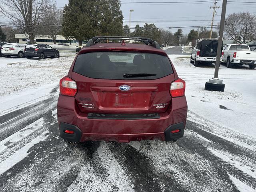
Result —
[[[26,46],[26,44],[21,43],[6,43],[2,46],[2,55],[7,57],[18,56],[22,58]]]

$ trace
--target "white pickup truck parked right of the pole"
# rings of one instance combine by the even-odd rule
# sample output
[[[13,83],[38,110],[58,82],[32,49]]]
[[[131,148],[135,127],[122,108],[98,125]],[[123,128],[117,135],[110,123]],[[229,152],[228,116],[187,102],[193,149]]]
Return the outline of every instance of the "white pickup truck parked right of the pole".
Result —
[[[239,64],[249,65],[250,69],[254,69],[256,67],[256,52],[250,51],[250,47],[246,44],[227,44],[223,47],[222,62],[226,62],[228,68]]]

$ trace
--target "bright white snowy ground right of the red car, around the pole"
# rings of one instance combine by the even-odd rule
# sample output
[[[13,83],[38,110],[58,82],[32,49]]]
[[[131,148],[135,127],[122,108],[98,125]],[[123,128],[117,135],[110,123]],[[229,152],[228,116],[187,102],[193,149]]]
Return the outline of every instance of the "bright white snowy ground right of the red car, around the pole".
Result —
[[[188,110],[210,122],[256,137],[256,70],[221,65],[224,92],[205,91],[214,66],[195,67],[189,56],[169,55],[178,76],[186,81]]]

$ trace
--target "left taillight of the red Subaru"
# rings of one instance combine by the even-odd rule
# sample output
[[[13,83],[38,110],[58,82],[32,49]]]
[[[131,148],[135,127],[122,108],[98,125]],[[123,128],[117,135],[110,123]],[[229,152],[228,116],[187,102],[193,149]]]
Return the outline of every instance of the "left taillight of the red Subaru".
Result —
[[[60,80],[60,94],[74,97],[76,92],[77,88],[74,80],[68,77],[64,77]]]

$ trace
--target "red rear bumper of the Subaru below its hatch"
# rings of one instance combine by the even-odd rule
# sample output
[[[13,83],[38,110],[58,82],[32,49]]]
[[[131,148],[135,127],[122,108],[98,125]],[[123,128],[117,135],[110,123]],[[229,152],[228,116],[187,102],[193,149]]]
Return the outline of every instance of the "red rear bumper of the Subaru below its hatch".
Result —
[[[75,142],[176,140],[184,134],[187,103],[185,96],[172,98],[172,110],[160,114],[160,118],[157,119],[90,119],[87,117],[88,114],[80,112],[73,97],[60,95],[57,111],[60,136],[65,140],[70,140],[67,137],[70,135],[64,133],[64,130],[73,130],[68,128],[67,124],[73,126],[73,131],[80,135]],[[176,129],[180,131],[172,134],[171,131]]]

